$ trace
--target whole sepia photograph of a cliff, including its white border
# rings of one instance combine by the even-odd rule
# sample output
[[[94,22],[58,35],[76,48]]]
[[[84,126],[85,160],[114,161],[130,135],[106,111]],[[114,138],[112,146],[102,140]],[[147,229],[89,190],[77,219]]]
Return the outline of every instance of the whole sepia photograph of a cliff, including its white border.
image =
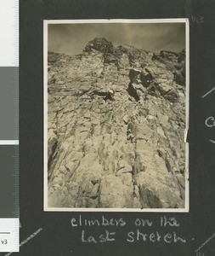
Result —
[[[189,24],[44,21],[44,210],[188,212]]]

